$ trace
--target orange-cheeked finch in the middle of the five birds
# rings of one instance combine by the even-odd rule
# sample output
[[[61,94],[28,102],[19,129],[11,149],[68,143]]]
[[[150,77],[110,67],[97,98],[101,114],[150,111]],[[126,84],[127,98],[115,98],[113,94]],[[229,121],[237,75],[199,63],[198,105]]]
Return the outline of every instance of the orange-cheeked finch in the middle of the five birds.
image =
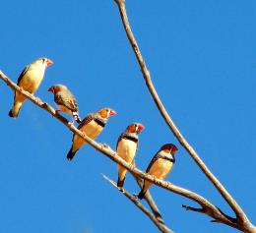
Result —
[[[85,119],[80,123],[78,129],[85,133],[92,140],[95,140],[96,137],[101,133],[104,126],[107,123],[107,120],[110,116],[116,115],[116,111],[110,108],[101,108],[94,113],[89,114]],[[67,154],[67,159],[70,161],[75,156],[76,152],[87,144],[87,142],[74,134],[72,140],[72,146]]]

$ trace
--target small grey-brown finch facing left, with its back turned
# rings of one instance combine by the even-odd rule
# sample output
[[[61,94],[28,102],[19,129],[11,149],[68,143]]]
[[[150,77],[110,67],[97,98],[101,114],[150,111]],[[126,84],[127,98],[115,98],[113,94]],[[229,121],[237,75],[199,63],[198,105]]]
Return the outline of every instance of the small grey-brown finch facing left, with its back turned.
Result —
[[[54,95],[54,102],[59,108],[57,112],[65,112],[72,115],[72,124],[74,120],[76,120],[77,123],[82,122],[78,114],[77,100],[68,87],[64,85],[54,85],[49,87],[48,91],[52,92]]]

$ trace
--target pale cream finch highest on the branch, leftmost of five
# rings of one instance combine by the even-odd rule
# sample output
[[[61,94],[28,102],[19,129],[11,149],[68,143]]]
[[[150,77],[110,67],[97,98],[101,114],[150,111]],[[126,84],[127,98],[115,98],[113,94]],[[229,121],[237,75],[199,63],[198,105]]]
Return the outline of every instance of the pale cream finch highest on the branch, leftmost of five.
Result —
[[[35,90],[39,87],[46,67],[52,65],[53,62],[46,57],[39,58],[28,65],[18,78],[17,85],[24,90],[34,93]],[[14,95],[14,104],[12,109],[9,111],[9,116],[17,118],[19,111],[25,101],[26,97],[19,91],[15,91]]]

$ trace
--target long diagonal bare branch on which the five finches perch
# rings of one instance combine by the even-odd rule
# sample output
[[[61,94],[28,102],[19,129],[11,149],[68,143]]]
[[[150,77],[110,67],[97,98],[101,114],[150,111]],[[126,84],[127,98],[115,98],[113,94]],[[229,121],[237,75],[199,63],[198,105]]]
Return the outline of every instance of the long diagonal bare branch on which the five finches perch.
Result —
[[[35,105],[39,106],[40,108],[46,110],[49,112],[54,118],[58,119],[60,122],[62,122],[70,131],[72,131],[74,134],[80,136],[82,139],[84,139],[89,145],[95,147],[98,151],[105,154],[108,158],[110,158],[112,161],[122,165],[125,167],[129,172],[131,172],[133,175],[140,177],[142,179],[146,179],[151,181],[152,183],[156,184],[157,186],[160,186],[161,188],[168,190],[170,192],[176,193],[178,195],[181,195],[187,199],[190,199],[197,204],[200,204],[203,208],[207,209],[206,214],[208,214],[210,217],[218,220],[219,222],[222,222],[224,224],[230,225],[236,229],[245,229],[243,225],[241,226],[238,222],[231,222],[228,217],[226,217],[223,212],[216,207],[214,204],[211,204],[208,200],[203,198],[202,196],[193,193],[189,190],[183,189],[181,187],[175,186],[173,184],[170,184],[169,182],[162,181],[160,179],[156,179],[155,177],[152,177],[138,168],[134,167],[133,165],[127,163],[125,160],[123,160],[121,157],[118,156],[118,154],[111,149],[109,146],[101,146],[96,143],[96,141],[89,138],[87,135],[85,135],[83,132],[78,130],[73,124],[68,122],[68,120],[54,110],[52,106],[50,106],[48,103],[43,102],[38,97],[33,96],[31,93],[29,93],[26,90],[21,89],[16,84],[14,84],[11,80],[8,79],[7,76],[3,74],[2,71],[0,71],[0,79],[2,79],[9,87],[13,88],[14,90],[17,90],[21,92],[23,95],[25,95],[29,100],[31,100]],[[246,228],[248,230],[244,232],[255,232],[255,228]]]

